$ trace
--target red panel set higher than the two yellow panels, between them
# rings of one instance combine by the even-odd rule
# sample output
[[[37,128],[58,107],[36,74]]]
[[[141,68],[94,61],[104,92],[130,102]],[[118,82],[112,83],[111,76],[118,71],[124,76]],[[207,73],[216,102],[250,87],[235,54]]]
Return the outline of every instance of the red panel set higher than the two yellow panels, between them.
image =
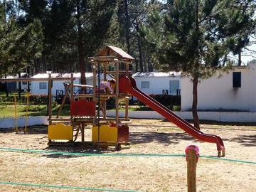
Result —
[[[71,102],[70,114],[73,116],[95,116],[96,105],[95,102],[87,102],[86,100],[79,100]]]

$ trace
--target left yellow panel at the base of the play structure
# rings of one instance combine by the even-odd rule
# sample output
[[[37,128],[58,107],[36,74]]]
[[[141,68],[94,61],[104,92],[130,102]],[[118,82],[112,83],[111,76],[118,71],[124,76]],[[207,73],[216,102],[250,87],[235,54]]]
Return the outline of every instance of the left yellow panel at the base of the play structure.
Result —
[[[73,141],[72,125],[65,125],[63,123],[48,125],[48,139],[61,139]]]

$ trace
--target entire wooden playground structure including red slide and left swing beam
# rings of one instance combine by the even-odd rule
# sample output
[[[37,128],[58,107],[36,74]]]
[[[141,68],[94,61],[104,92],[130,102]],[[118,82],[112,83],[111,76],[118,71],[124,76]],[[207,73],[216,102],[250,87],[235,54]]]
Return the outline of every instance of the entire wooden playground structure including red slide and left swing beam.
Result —
[[[163,117],[173,122],[194,138],[203,142],[215,143],[217,145],[218,156],[225,156],[223,140],[212,134],[204,134],[193,127],[185,120],[178,117],[174,112],[161,105],[156,100],[146,95],[137,88],[136,82],[130,77],[129,64],[132,63],[132,56],[120,48],[106,46],[102,48],[94,57],[89,58],[93,69],[93,85],[74,84],[73,74],[70,78],[51,78],[36,79],[48,80],[48,139],[49,145],[90,145],[98,147],[115,146],[119,149],[121,144],[129,144],[129,118],[128,105],[129,98],[133,95],[138,100],[151,107],[152,110],[159,112]],[[100,87],[100,73],[103,73],[103,80],[107,80],[107,74],[113,75],[116,80],[116,90],[114,94],[102,94],[96,92]],[[32,81],[32,78],[19,78],[17,81]],[[51,105],[51,87],[53,80],[67,80],[65,83],[65,97],[58,110],[56,117],[53,117]],[[14,81],[14,79],[1,79],[2,82]],[[75,95],[74,87],[79,87],[85,93]],[[92,90],[87,93],[86,90]],[[114,99],[116,115],[115,118],[107,117],[107,100]],[[70,101],[70,117],[60,117],[60,112],[65,104],[65,100]],[[119,118],[119,101],[125,101],[125,117]],[[100,111],[102,115],[100,116]],[[85,127],[92,126],[91,142],[85,142]],[[73,135],[73,132],[75,134]],[[81,132],[81,142],[76,142],[78,134]],[[65,141],[65,142],[63,142]]]

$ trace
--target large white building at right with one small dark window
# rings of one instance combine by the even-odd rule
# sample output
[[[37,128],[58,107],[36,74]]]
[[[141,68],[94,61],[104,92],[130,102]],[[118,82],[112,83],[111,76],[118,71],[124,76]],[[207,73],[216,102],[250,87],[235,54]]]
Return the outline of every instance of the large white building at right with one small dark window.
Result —
[[[235,68],[198,83],[198,110],[256,112],[256,63]],[[193,90],[189,78],[182,78],[181,110],[191,110]]]

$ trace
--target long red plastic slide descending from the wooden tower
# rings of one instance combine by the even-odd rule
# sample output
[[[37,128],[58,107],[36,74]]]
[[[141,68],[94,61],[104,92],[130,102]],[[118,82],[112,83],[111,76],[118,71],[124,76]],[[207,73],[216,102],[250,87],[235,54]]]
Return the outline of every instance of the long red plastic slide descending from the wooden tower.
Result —
[[[159,114],[161,114],[163,117],[168,119],[170,122],[173,122],[178,127],[183,129],[185,132],[187,132],[188,134],[191,134],[191,136],[195,137],[196,139],[201,140],[203,142],[217,144],[218,156],[225,156],[225,148],[224,148],[223,140],[220,137],[213,134],[204,134],[200,130],[196,129],[196,127],[193,127],[193,125],[186,122],[181,117],[178,117],[178,115],[174,114],[174,112],[171,112],[171,110],[164,107],[164,105],[161,105],[161,103],[157,102],[152,97],[150,97],[149,95],[146,95],[146,93],[139,90],[133,78],[129,78],[129,77],[120,78],[119,91],[129,92],[134,97],[137,97],[138,100],[140,100],[141,102],[144,102],[144,104],[151,107],[152,110],[159,112]]]

